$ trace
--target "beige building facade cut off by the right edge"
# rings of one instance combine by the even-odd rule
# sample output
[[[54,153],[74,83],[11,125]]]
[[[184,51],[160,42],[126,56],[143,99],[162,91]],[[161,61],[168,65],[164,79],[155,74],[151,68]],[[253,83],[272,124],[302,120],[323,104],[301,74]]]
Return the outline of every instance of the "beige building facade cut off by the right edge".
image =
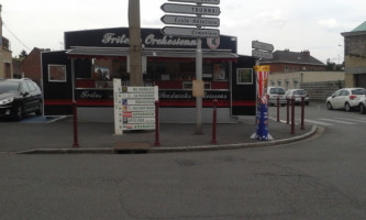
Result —
[[[345,86],[366,88],[366,21],[344,36]]]

